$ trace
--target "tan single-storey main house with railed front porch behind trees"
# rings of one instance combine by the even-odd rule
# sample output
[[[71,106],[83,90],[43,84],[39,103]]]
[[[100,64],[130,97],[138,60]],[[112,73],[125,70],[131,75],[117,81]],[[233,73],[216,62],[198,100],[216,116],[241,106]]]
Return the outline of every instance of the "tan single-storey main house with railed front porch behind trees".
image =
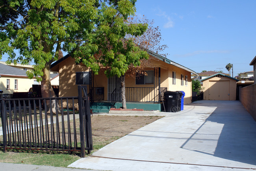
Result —
[[[135,77],[125,77],[125,90],[127,108],[137,108],[144,110],[153,110],[156,105],[157,110],[161,109],[160,93],[168,91],[184,91],[184,104],[191,103],[191,73],[196,72],[186,68],[178,63],[166,59],[157,53],[147,51],[150,55],[150,66],[146,69],[147,75],[137,75]],[[75,60],[66,55],[51,65],[51,70],[59,72],[59,97],[77,96],[78,85],[88,85],[90,98],[94,101],[111,101],[113,95],[117,101],[121,101],[121,79],[118,77],[106,77],[104,68],[98,75],[91,73],[90,69],[82,63],[76,64]],[[129,102],[134,102],[133,107]],[[147,103],[138,103],[147,102]],[[146,108],[147,104],[151,104]],[[116,104],[116,107],[119,108]]]

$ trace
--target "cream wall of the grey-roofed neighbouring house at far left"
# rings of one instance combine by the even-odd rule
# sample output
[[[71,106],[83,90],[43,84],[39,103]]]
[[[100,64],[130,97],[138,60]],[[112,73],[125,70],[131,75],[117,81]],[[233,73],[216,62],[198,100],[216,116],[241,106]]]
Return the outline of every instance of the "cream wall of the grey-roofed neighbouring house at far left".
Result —
[[[6,89],[6,80],[10,79],[10,89]],[[15,79],[18,80],[18,89],[14,89]],[[27,77],[0,77],[0,90],[3,90],[3,94],[13,94],[13,92],[28,92],[34,83],[35,79],[28,79]]]

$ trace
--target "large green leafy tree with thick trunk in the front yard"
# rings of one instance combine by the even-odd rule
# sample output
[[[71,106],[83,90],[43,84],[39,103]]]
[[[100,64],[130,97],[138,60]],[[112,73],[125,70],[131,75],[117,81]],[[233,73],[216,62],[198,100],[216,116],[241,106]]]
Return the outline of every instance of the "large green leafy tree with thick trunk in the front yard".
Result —
[[[135,0],[4,0],[0,2],[0,59],[28,64],[28,77],[41,81],[43,97],[53,97],[50,65],[67,51],[95,74],[99,63],[107,76],[124,75],[130,63],[140,64],[147,54],[123,39],[143,34],[147,24],[126,24],[135,13]],[[15,50],[19,51],[16,55]],[[97,53],[97,57],[94,54]]]

